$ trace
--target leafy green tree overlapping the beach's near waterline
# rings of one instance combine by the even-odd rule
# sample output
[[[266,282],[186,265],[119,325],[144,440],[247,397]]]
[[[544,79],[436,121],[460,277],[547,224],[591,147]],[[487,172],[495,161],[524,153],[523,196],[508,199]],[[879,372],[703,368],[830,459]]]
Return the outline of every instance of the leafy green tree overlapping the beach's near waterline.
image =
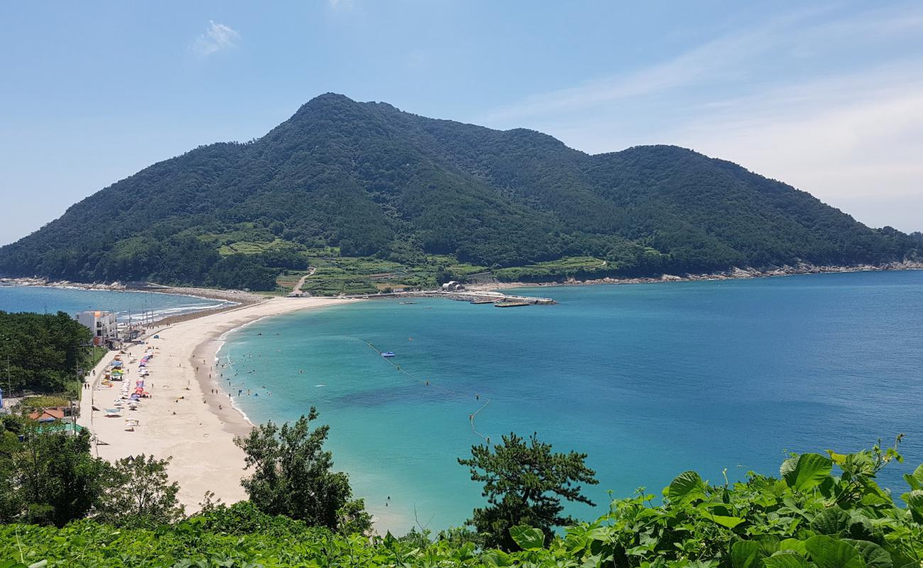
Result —
[[[253,476],[241,480],[250,501],[266,514],[284,514],[311,526],[342,532],[365,532],[371,517],[362,500],[351,501],[349,476],[331,471],[333,456],[323,449],[329,426],[311,429],[318,410],[278,427],[272,422],[253,429],[236,443],[246,453]]]

